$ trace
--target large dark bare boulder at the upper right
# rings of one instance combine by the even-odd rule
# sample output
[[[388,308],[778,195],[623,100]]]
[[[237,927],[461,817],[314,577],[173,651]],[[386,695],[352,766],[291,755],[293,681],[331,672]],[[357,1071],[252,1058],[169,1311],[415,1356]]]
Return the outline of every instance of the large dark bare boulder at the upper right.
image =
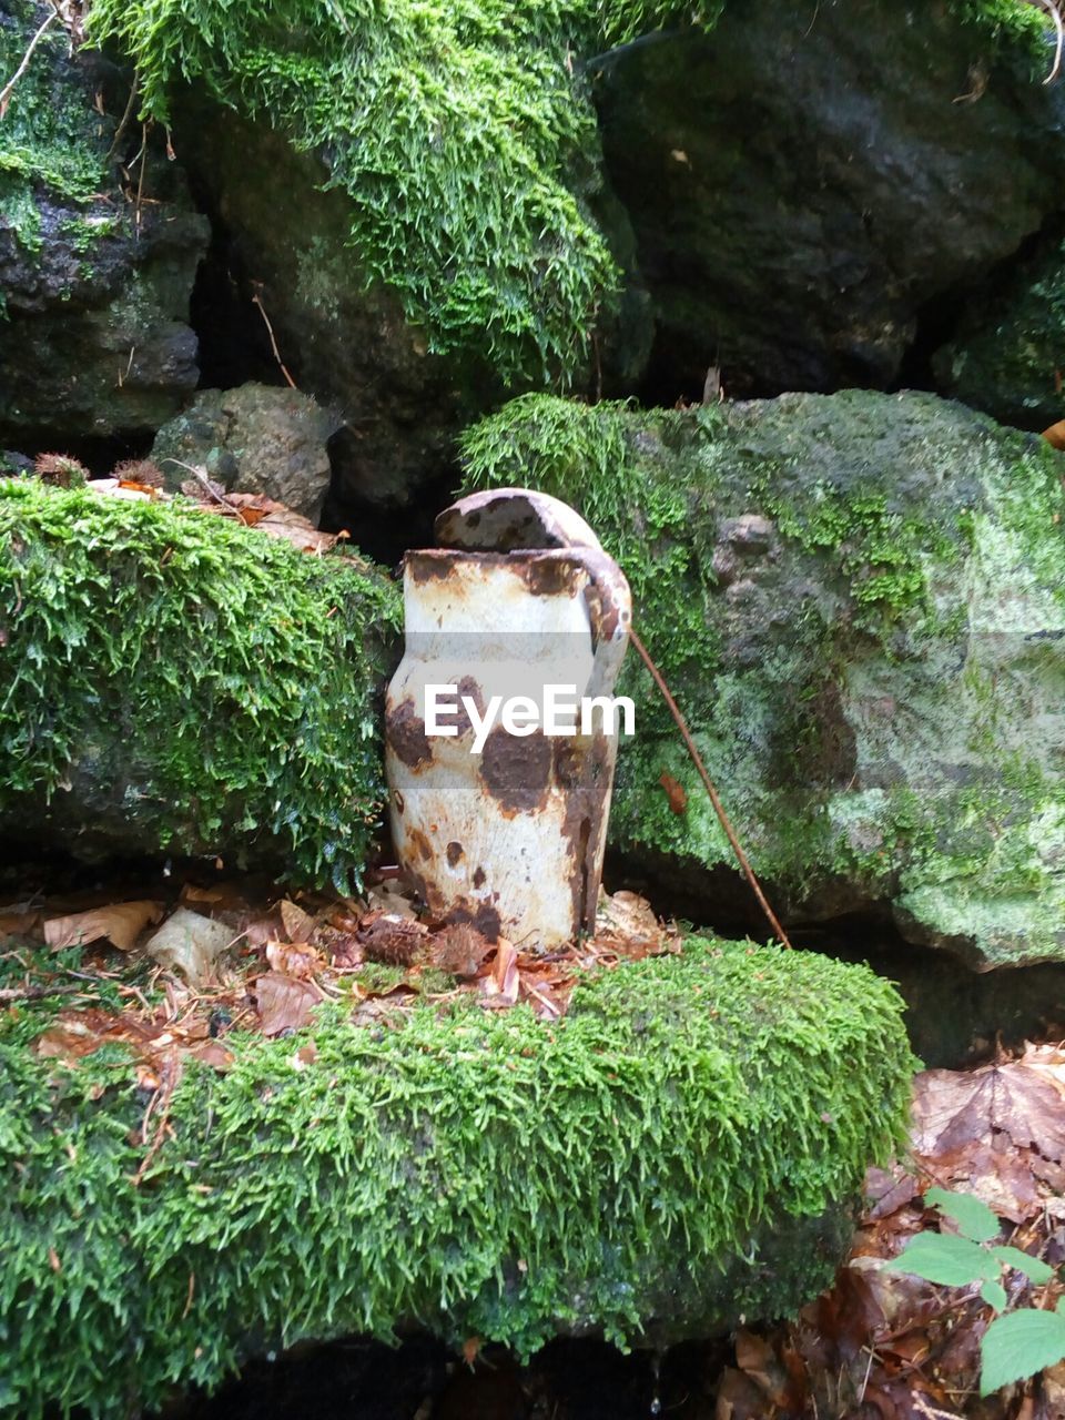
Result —
[[[889,386],[929,302],[1061,207],[1065,85],[1039,82],[1052,50],[997,51],[993,9],[730,0],[710,34],[605,58],[653,393],[692,398],[713,365],[733,395]]]

